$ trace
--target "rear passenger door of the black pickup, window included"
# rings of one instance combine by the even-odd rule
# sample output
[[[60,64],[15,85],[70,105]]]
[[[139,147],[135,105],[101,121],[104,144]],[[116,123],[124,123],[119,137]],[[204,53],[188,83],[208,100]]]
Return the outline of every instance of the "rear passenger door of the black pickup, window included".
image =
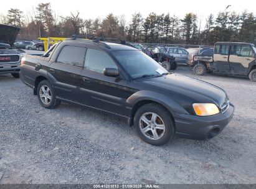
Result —
[[[49,76],[54,82],[57,96],[70,101],[78,101],[80,73],[82,71],[86,48],[65,45],[50,64]]]

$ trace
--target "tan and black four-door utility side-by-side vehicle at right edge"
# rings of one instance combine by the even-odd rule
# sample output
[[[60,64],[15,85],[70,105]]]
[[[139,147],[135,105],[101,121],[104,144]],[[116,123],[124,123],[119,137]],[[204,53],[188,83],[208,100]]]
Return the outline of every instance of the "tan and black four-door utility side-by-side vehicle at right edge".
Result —
[[[204,75],[206,71],[222,75],[249,76],[256,82],[256,47],[254,44],[218,42],[214,55],[194,57],[194,73]]]

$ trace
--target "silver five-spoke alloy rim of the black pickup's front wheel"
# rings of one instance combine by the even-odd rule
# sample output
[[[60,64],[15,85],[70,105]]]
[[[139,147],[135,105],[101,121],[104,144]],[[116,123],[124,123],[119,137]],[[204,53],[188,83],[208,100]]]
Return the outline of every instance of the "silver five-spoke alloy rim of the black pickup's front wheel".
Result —
[[[163,119],[156,113],[144,113],[140,117],[140,131],[148,139],[161,139],[165,132]]]

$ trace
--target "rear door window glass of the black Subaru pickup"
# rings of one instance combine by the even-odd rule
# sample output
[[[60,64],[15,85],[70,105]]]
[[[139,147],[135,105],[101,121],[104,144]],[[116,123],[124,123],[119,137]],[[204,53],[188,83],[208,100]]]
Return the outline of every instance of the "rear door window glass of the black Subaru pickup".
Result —
[[[65,46],[62,48],[57,62],[64,63],[73,67],[83,67],[86,48]]]

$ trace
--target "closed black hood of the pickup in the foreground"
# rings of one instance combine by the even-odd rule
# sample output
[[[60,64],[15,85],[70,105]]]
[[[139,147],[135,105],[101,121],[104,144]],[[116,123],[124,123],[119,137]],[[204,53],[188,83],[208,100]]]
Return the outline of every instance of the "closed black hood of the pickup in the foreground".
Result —
[[[220,106],[227,99],[225,91],[218,86],[176,73],[148,78],[143,80],[143,83],[153,85],[158,90],[168,90],[170,93],[187,96],[194,103],[211,103],[211,101],[214,101]]]

